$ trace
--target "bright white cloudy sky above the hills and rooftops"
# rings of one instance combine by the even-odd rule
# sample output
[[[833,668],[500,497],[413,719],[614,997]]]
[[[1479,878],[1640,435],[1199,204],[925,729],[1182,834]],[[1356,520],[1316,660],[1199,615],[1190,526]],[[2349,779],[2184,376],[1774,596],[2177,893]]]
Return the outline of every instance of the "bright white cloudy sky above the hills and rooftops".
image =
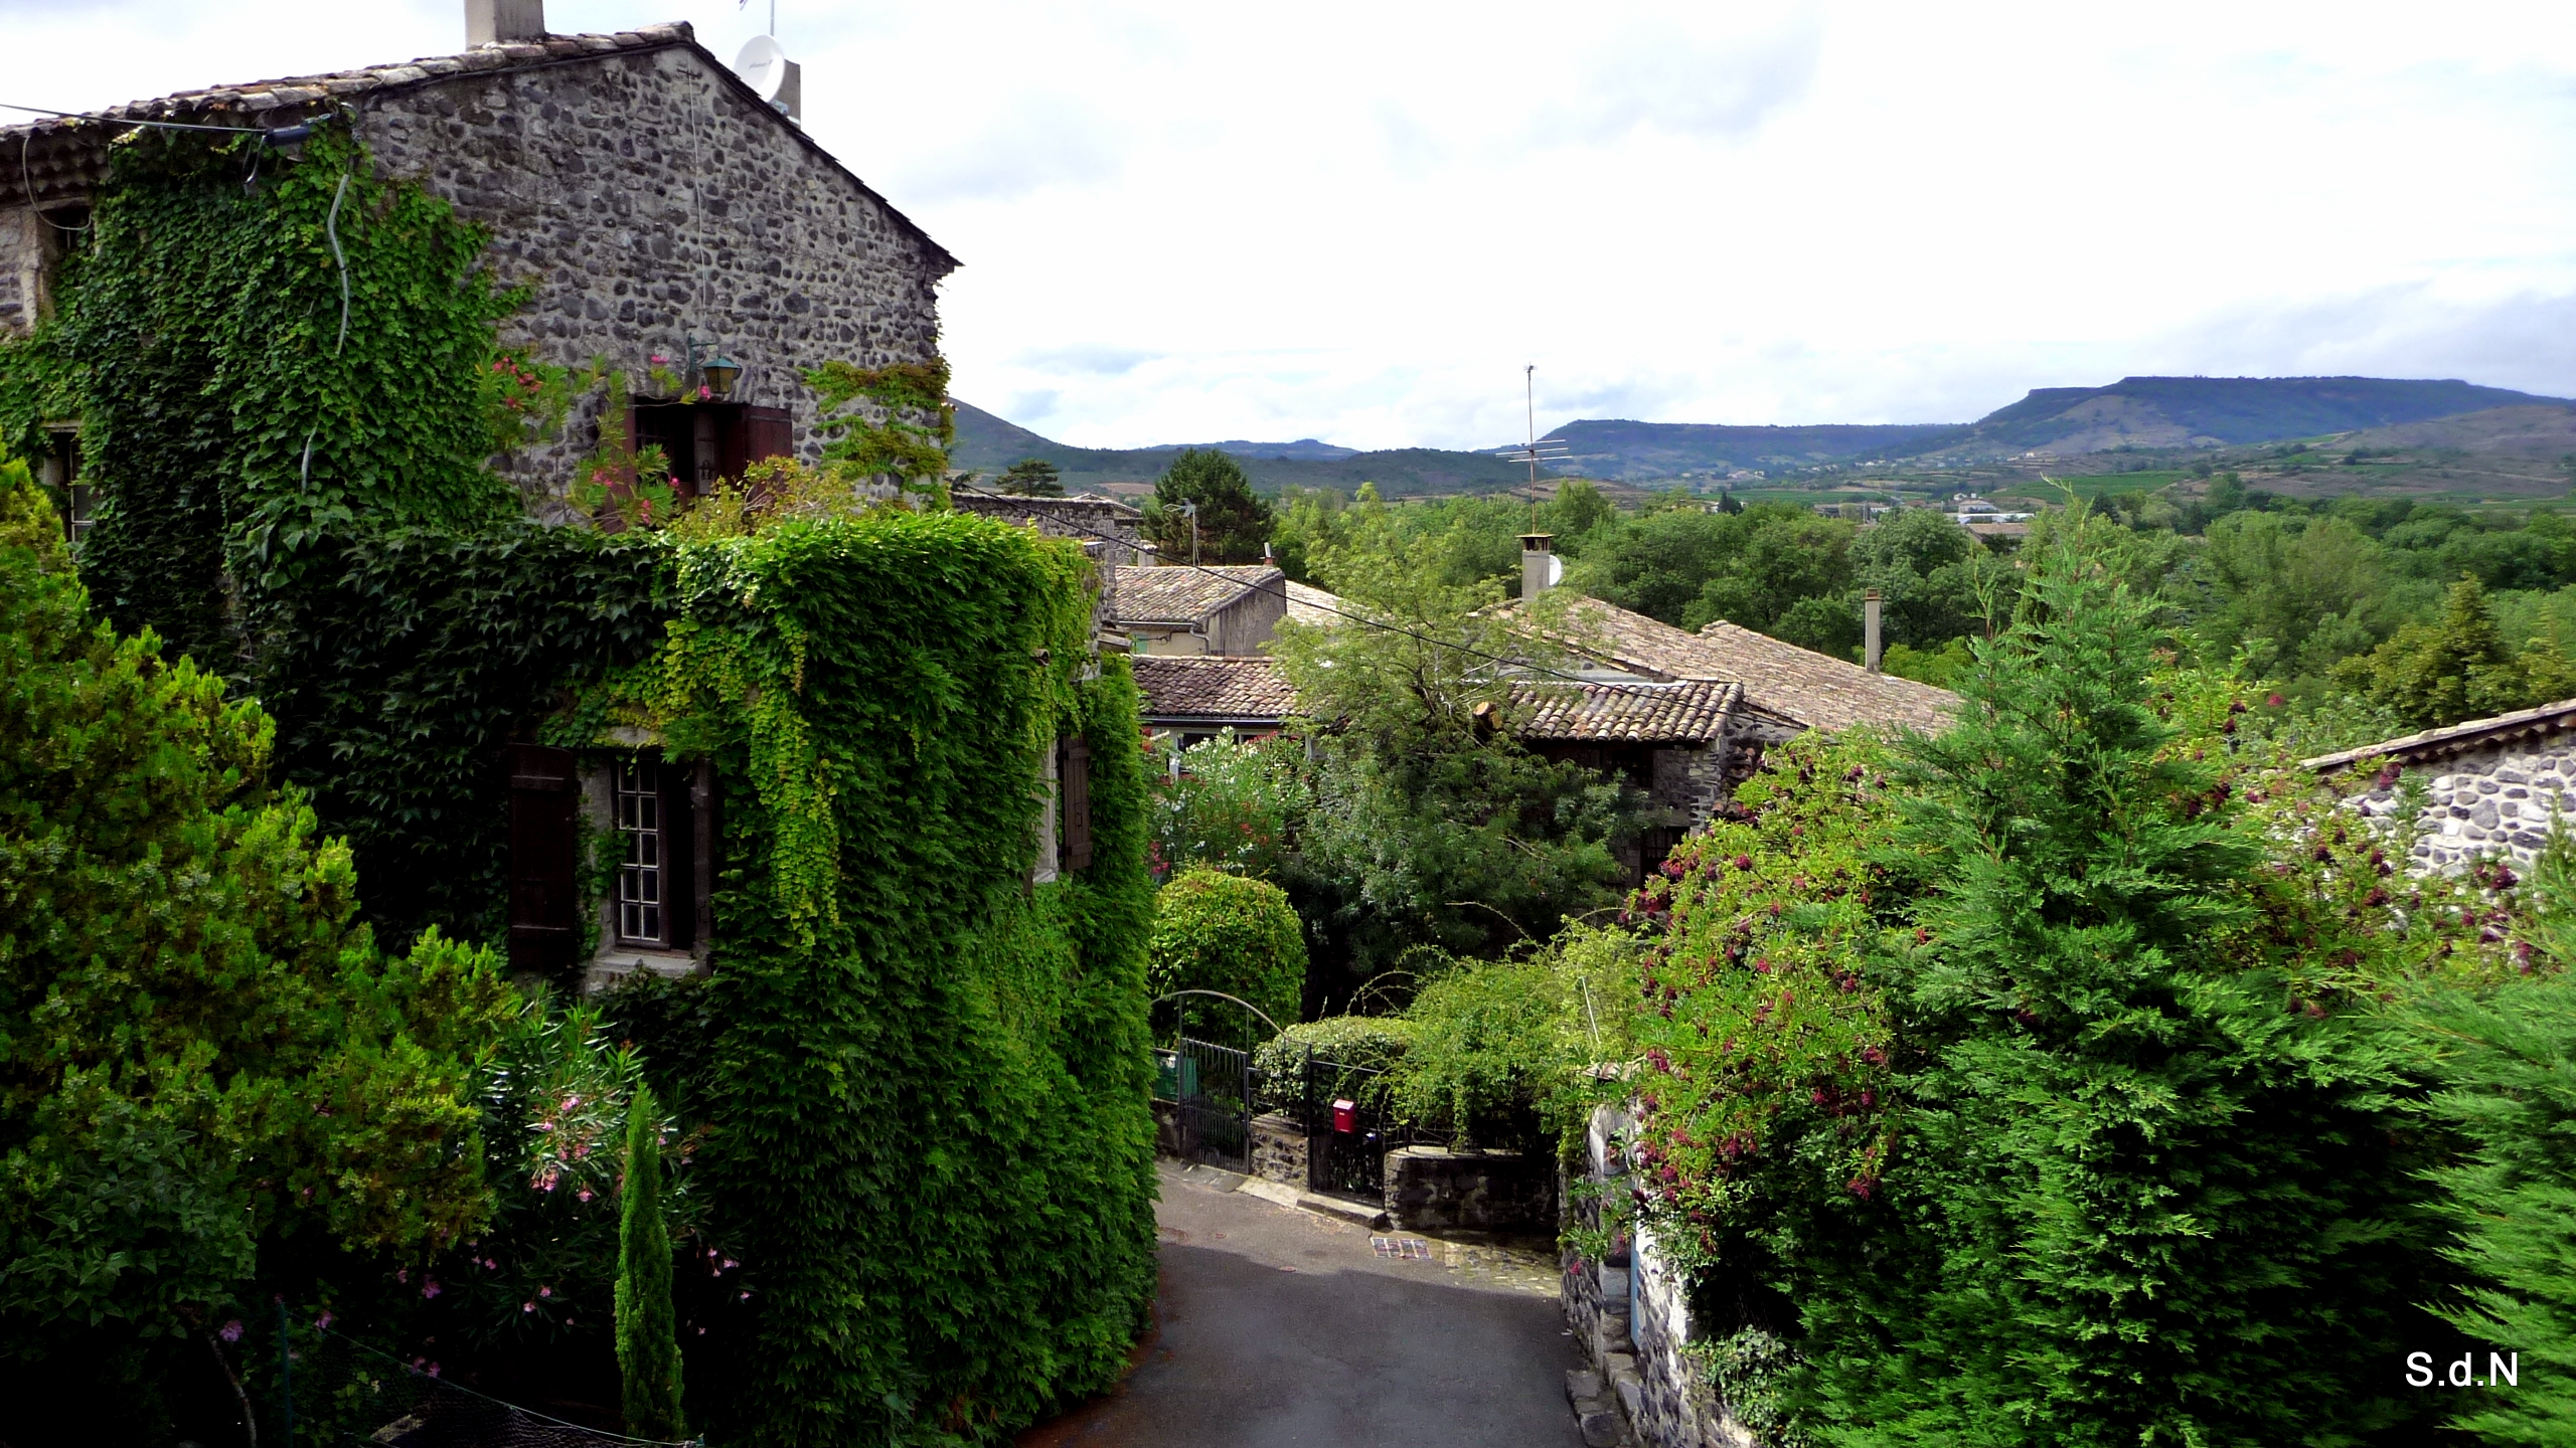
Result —
[[[0,0],[0,100],[459,49],[464,0]],[[556,31],[768,0],[549,0]],[[817,139],[1069,443],[1947,423],[2125,374],[2576,394],[2576,5],[778,0]]]

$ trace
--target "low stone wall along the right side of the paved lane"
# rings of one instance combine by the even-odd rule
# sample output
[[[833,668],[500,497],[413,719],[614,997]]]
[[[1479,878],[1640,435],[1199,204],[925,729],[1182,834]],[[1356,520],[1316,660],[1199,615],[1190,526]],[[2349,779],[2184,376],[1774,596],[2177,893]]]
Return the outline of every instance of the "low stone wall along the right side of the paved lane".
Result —
[[[1569,1193],[1569,1219],[1600,1226],[1600,1198],[1625,1190],[1620,1144],[1636,1131],[1625,1110],[1592,1113],[1589,1175],[1600,1193]],[[1600,1404],[1615,1407],[1633,1443],[1643,1448],[1759,1448],[1749,1427],[1718,1402],[1708,1376],[1685,1353],[1695,1324],[1690,1283],[1656,1250],[1651,1234],[1638,1234],[1625,1252],[1589,1262],[1564,1257],[1566,1327],[1592,1363]],[[1582,1415],[1582,1396],[1577,1396]],[[1584,1443],[1607,1448],[1602,1425],[1584,1417]]]

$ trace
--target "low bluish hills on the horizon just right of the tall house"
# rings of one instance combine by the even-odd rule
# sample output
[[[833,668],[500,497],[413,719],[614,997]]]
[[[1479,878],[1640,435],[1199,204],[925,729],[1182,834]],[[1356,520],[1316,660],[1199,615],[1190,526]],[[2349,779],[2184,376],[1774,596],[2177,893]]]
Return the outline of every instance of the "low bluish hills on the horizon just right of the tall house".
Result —
[[[948,461],[963,469],[994,474],[1020,459],[1046,459],[1064,472],[1066,492],[1108,487],[1113,482],[1154,482],[1172,466],[1182,446],[1159,448],[1074,448],[1005,423],[971,402],[948,399],[958,412],[958,438],[948,448]],[[1355,492],[1363,482],[1376,482],[1386,497],[1419,497],[1430,492],[1504,492],[1528,482],[1528,466],[1512,466],[1486,453],[1450,453],[1440,448],[1394,448],[1363,453],[1334,443],[1301,438],[1296,443],[1195,443],[1224,448],[1244,461],[1252,484],[1280,487],[1340,487]]]

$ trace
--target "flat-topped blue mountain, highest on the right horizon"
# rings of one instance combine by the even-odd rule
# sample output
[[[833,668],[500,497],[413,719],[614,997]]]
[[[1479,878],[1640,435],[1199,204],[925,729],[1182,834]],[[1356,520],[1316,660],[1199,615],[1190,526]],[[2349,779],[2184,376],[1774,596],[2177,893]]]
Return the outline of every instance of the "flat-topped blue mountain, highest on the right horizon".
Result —
[[[2561,402],[2468,381],[2385,376],[2125,376],[2110,386],[2040,386],[1940,443],[1958,451],[2097,453],[2117,446],[2215,448],[2429,423],[2491,407]],[[1929,451],[1929,448],[1927,448]]]

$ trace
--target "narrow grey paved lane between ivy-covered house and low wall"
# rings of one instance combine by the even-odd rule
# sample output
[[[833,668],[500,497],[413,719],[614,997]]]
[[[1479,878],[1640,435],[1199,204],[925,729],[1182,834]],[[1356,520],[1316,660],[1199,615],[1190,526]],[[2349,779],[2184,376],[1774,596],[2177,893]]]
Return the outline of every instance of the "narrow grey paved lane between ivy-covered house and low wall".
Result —
[[[1162,1327],[1128,1381],[1020,1448],[1579,1448],[1577,1366],[1543,1265],[1432,1244],[1162,1172]]]

